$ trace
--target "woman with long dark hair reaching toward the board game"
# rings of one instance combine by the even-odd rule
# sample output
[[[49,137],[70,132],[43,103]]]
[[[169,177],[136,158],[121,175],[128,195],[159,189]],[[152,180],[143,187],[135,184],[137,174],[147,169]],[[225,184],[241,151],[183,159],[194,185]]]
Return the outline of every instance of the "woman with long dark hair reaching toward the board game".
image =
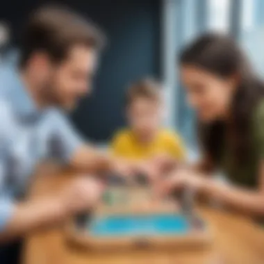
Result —
[[[183,187],[253,215],[264,215],[264,84],[236,42],[207,34],[180,57],[181,80],[196,110],[202,160],[176,170],[163,192]],[[221,170],[230,184],[204,175]]]

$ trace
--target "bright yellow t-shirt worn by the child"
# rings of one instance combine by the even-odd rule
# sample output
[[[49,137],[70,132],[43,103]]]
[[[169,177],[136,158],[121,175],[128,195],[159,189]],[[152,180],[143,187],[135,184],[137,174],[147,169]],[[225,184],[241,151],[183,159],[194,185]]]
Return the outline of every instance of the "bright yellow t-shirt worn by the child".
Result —
[[[142,145],[129,129],[117,132],[111,150],[115,156],[129,159],[151,158],[158,154],[167,154],[179,160],[185,158],[185,148],[180,136],[174,131],[160,129],[153,142]]]

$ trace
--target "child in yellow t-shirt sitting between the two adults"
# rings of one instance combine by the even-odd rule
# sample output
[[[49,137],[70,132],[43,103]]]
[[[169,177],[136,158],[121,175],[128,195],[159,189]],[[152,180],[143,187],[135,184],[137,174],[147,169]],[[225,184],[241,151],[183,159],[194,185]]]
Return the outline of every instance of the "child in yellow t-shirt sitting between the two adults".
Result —
[[[165,110],[159,83],[143,79],[131,85],[125,110],[128,127],[118,131],[113,139],[115,156],[133,161],[143,171],[147,170],[147,160],[164,163],[185,158],[179,135],[162,125]]]

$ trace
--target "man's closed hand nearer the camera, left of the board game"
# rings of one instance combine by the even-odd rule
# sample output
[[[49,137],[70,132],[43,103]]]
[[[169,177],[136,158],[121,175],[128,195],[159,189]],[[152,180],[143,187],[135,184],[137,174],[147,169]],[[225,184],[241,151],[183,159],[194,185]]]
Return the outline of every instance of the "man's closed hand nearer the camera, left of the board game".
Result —
[[[81,176],[63,190],[60,201],[67,215],[73,215],[96,206],[104,185],[97,179]]]

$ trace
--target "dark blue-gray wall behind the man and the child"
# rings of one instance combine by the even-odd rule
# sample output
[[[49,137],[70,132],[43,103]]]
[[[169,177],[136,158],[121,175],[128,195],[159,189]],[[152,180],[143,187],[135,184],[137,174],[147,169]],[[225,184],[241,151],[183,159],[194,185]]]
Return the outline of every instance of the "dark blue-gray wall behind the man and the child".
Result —
[[[10,23],[15,42],[28,13],[45,2],[10,0],[1,6],[0,20]],[[84,99],[72,115],[77,129],[86,138],[107,140],[115,129],[124,125],[123,99],[128,83],[142,76],[160,76],[160,1],[58,2],[90,17],[108,36],[92,97]]]

